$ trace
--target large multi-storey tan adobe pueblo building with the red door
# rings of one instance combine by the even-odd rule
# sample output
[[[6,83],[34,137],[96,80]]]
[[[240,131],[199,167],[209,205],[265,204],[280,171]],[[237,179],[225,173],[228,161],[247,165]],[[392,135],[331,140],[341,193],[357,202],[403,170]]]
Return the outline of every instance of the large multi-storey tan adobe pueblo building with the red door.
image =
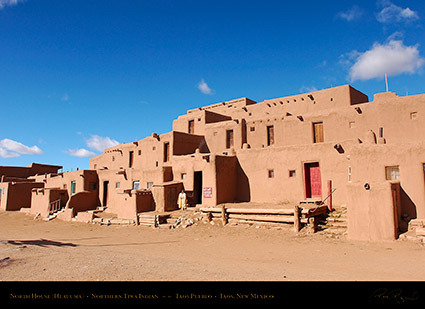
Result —
[[[191,109],[171,132],[108,148],[89,170],[33,176],[44,186],[32,189],[31,213],[48,216],[60,200],[68,219],[103,206],[133,220],[177,209],[184,190],[203,208],[326,201],[347,208],[349,238],[397,239],[424,227],[424,115],[423,94],[369,102],[349,85]]]

